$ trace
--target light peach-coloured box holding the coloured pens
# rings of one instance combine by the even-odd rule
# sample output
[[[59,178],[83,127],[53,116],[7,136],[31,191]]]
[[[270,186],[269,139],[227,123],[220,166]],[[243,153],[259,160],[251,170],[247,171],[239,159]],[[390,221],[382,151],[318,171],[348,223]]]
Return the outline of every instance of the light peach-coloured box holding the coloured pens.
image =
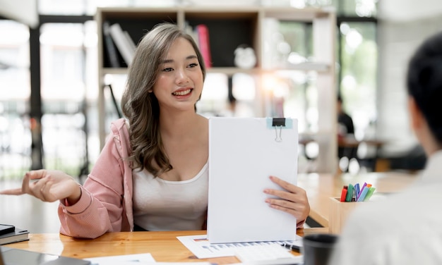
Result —
[[[328,233],[339,234],[345,225],[348,215],[364,202],[340,202],[340,198],[330,197],[330,214],[328,215]]]

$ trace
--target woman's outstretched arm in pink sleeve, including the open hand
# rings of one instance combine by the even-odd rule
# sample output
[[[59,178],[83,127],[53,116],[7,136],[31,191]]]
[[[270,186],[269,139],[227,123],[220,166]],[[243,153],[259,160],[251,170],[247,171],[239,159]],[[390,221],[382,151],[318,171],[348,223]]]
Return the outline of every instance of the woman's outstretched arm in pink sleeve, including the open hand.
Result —
[[[120,123],[124,125],[124,121]],[[60,233],[64,235],[97,238],[108,231],[120,231],[126,218],[123,216],[124,163],[121,159],[126,153],[118,128],[112,129],[83,187],[62,171],[41,169],[26,173],[22,187],[2,190],[0,195],[28,194],[43,202],[59,200]],[[123,137],[127,136],[125,133]]]

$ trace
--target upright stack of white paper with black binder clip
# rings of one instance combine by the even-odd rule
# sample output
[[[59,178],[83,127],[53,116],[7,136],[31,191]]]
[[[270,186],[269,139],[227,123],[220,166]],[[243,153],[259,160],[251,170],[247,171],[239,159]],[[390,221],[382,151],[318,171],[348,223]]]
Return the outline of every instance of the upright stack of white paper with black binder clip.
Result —
[[[293,118],[209,118],[210,243],[295,240],[297,220],[265,202],[297,183],[298,130]]]

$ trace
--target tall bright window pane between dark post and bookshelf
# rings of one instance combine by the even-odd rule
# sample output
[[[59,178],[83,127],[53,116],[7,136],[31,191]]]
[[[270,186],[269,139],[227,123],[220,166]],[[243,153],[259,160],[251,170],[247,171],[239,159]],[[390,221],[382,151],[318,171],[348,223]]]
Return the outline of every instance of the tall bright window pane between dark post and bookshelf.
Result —
[[[40,32],[44,166],[73,176],[90,160],[88,99],[94,101],[97,91],[92,27],[95,23],[47,23]]]

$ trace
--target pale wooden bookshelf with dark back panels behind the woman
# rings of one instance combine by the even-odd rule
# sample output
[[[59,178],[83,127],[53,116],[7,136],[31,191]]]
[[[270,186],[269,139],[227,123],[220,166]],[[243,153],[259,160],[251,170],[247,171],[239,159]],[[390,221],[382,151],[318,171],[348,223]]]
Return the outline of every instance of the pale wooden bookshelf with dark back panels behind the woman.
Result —
[[[272,65],[265,60],[264,20],[306,22],[312,25],[314,61],[290,65]],[[157,23],[172,22],[184,28],[204,24],[209,29],[212,67],[208,73],[247,73],[256,79],[257,91],[263,90],[263,75],[277,70],[316,73],[318,91],[318,126],[313,135],[318,143],[316,171],[335,173],[337,157],[337,116],[335,90],[335,13],[326,8],[292,8],[269,6],[177,6],[170,8],[97,8],[95,15],[98,27],[98,128],[100,146],[107,136],[108,124],[104,112],[104,75],[126,74],[127,63],[117,54],[120,66],[111,67],[103,34],[103,23],[119,23],[135,44]],[[234,50],[240,44],[252,47],[256,54],[256,66],[241,69],[234,66]],[[265,93],[258,95],[260,106],[257,116],[265,116]],[[294,117],[296,118],[296,117]]]

